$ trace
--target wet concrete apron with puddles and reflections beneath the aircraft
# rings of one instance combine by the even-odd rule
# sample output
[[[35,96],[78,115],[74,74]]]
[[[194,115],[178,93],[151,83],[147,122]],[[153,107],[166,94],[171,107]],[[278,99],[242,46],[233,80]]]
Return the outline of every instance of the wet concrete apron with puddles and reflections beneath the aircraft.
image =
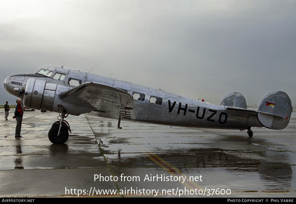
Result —
[[[69,116],[72,134],[62,145],[50,143],[47,137],[56,120],[55,113],[26,111],[22,138],[14,137],[15,120],[0,122],[3,133],[0,137],[1,197],[63,195],[65,187],[77,186],[81,189],[220,188],[230,189],[235,197],[246,194],[269,197],[268,192],[276,190],[279,197],[295,197],[294,113],[286,129],[252,128],[252,138],[239,130],[126,121],[121,121],[123,129],[120,130],[115,120]],[[140,181],[119,179],[115,184],[93,179],[94,174],[110,176],[111,173],[118,178],[138,176]],[[148,181],[147,175],[191,176],[200,180]],[[15,176],[18,181],[13,179]],[[29,187],[13,188],[17,182]],[[47,184],[42,185],[44,183]]]

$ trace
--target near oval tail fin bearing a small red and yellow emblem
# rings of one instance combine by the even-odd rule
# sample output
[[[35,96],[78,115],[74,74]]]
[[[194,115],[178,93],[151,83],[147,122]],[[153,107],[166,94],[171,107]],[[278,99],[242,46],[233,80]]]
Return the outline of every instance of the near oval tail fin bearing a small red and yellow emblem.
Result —
[[[292,113],[292,103],[283,91],[266,95],[259,103],[257,117],[261,125],[273,130],[287,127]]]

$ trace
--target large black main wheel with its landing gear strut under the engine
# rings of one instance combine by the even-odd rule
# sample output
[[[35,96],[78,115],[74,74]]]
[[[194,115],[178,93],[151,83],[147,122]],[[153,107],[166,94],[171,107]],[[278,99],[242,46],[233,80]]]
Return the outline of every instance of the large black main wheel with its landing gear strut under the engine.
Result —
[[[52,127],[48,131],[48,138],[53,144],[64,144],[69,137],[69,132],[71,133],[70,125],[69,123],[64,120],[69,114],[67,114],[67,111],[62,112],[58,119],[59,121],[52,124]]]

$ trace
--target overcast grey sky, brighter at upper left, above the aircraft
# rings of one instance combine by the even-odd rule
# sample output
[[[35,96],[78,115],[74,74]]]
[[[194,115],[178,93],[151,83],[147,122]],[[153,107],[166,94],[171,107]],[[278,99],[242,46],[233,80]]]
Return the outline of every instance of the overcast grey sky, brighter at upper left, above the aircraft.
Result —
[[[296,104],[295,11],[294,0],[0,0],[0,79],[98,64],[91,73],[210,103],[281,90]]]

